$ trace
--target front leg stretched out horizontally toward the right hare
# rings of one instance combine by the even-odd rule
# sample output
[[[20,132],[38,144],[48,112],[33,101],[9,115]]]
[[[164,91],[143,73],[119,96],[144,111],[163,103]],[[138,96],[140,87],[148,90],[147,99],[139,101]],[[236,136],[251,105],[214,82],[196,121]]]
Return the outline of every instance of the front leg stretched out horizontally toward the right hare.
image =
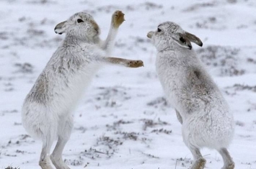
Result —
[[[144,66],[144,63],[142,60],[128,60],[123,58],[102,58],[103,62],[115,64],[115,65],[124,65],[128,68],[139,68],[141,66]]]

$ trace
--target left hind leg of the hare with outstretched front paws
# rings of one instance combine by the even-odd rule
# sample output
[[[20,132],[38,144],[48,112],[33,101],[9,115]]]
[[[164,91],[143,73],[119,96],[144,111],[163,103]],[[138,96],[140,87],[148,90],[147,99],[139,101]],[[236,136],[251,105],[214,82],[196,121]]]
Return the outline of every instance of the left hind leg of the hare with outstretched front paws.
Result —
[[[45,136],[45,140],[43,140],[43,148],[40,155],[39,165],[42,169],[53,169],[50,165],[50,147],[53,145],[54,137],[50,134]]]

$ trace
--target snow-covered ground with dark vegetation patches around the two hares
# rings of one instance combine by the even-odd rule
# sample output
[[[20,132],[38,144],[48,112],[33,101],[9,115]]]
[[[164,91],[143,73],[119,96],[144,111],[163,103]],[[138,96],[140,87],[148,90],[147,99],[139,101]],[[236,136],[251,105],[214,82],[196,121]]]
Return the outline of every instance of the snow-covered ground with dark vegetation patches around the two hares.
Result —
[[[54,27],[89,12],[107,35],[112,12],[125,13],[113,55],[144,60],[144,68],[100,70],[74,112],[63,152],[70,168],[189,168],[192,155],[181,125],[157,79],[156,50],[146,33],[177,22],[203,41],[193,45],[234,112],[229,147],[236,168],[256,168],[256,1],[0,1],[0,168],[36,169],[41,142],[27,135],[21,106],[64,35]],[[206,168],[221,168],[215,150],[203,149]]]

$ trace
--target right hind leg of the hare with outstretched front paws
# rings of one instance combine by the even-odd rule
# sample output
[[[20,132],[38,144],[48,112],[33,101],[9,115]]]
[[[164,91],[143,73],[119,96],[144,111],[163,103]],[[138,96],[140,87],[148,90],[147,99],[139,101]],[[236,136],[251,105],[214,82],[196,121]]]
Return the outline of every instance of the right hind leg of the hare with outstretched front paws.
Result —
[[[58,126],[58,142],[53,150],[53,153],[50,155],[50,160],[53,162],[56,169],[70,169],[68,165],[63,162],[62,152],[66,142],[69,141],[74,121],[73,117],[69,117],[66,120],[61,120],[63,120],[63,122]]]

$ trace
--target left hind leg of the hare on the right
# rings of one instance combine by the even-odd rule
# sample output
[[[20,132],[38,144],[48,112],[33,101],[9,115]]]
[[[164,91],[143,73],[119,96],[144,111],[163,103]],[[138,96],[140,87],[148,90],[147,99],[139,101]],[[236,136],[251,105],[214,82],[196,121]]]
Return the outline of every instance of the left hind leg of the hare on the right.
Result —
[[[200,150],[196,147],[189,147],[194,157],[194,163],[190,169],[203,169],[206,165],[206,160],[200,153]]]

